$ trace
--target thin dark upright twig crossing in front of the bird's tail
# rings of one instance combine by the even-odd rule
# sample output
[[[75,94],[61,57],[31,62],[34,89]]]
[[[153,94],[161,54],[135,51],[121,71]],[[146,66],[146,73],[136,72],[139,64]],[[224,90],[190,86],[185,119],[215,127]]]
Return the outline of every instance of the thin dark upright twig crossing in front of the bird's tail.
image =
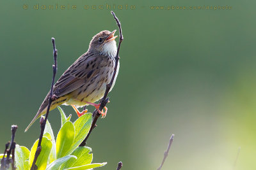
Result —
[[[56,72],[57,72],[57,50],[56,50],[56,46],[55,46],[55,39],[52,38],[52,46],[53,46],[53,59],[54,59],[54,65],[52,65],[52,70],[53,70],[53,75],[52,75],[52,85],[51,85],[51,92],[50,92],[50,96],[49,96],[49,103],[47,106],[47,111],[46,111],[46,115],[45,118],[41,118],[40,120],[40,124],[41,124],[41,133],[39,136],[39,140],[38,140],[38,145],[36,148],[36,153],[35,153],[35,158],[33,160],[33,164],[31,166],[31,170],[33,169],[37,169],[36,167],[36,160],[38,159],[38,156],[42,150],[42,139],[43,139],[43,135],[44,135],[44,129],[45,129],[45,124],[49,115],[49,110],[51,107],[51,103],[52,101],[54,101],[56,99],[56,96],[52,95],[53,94],[53,85],[54,85],[54,80],[55,80],[55,76],[56,76]]]

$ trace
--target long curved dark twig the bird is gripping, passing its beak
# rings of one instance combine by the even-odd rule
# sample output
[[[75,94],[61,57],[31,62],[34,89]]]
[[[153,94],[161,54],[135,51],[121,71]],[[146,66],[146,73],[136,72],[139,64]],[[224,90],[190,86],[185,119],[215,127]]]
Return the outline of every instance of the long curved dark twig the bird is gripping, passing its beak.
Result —
[[[116,20],[116,24],[118,25],[118,28],[119,28],[119,34],[120,34],[120,38],[119,38],[119,43],[118,43],[118,48],[117,48],[117,51],[116,51],[116,57],[115,57],[115,68],[114,68],[114,73],[113,73],[113,76],[111,78],[111,81],[108,85],[106,85],[106,91],[105,91],[105,94],[104,96],[102,97],[102,99],[100,99],[100,107],[99,107],[99,110],[102,110],[106,104],[108,103],[108,99],[109,97],[107,98],[108,96],[108,92],[109,90],[111,89],[111,86],[113,84],[113,81],[114,81],[114,78],[115,78],[115,75],[116,75],[116,69],[117,69],[117,65],[118,65],[118,60],[119,60],[119,50],[120,50],[120,45],[124,39],[123,37],[123,34],[122,34],[122,28],[121,28],[121,24],[118,20],[118,18],[116,17],[115,13],[113,11],[111,11],[111,14],[113,15],[113,17],[115,18]],[[84,139],[84,141],[79,145],[79,146],[85,146],[86,145],[86,141],[87,139],[89,138],[92,130],[96,127],[96,122],[98,120],[98,118],[100,117],[100,113],[95,110],[93,111],[93,121],[92,121],[92,126],[90,128],[90,131],[88,132],[86,138]]]

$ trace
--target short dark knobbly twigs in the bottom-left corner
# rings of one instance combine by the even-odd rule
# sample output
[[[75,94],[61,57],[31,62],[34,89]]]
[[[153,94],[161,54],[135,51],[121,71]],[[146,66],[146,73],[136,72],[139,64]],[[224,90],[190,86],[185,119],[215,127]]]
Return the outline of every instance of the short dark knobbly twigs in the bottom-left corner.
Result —
[[[6,143],[5,145],[5,150],[4,150],[4,156],[3,159],[1,160],[1,170],[2,169],[8,169],[10,167],[10,163],[12,163],[12,169],[16,169],[15,165],[14,165],[14,153],[15,153],[15,132],[17,131],[18,126],[17,125],[12,125],[12,140],[11,142]],[[11,145],[10,145],[11,144]],[[10,145],[10,149],[8,149]],[[5,153],[6,153],[6,157],[5,157]],[[12,159],[10,159],[10,155],[12,153]]]

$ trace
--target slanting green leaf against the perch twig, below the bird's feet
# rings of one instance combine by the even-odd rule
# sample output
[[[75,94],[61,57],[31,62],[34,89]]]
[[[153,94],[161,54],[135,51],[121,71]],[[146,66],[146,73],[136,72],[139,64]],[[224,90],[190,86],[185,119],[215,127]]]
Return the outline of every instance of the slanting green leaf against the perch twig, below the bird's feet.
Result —
[[[77,148],[77,146],[79,146],[80,143],[84,140],[90,130],[91,125],[92,113],[87,113],[77,118],[76,122],[74,122],[75,138],[68,154],[72,153]]]

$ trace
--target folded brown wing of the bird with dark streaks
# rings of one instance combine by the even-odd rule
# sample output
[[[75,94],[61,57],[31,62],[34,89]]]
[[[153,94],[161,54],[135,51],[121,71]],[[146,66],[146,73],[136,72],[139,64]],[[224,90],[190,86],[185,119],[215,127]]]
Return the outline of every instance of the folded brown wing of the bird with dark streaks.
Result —
[[[97,66],[100,64],[100,59],[99,55],[90,53],[85,53],[79,57],[55,83],[53,94],[61,97],[88,83],[99,74],[99,67]]]

